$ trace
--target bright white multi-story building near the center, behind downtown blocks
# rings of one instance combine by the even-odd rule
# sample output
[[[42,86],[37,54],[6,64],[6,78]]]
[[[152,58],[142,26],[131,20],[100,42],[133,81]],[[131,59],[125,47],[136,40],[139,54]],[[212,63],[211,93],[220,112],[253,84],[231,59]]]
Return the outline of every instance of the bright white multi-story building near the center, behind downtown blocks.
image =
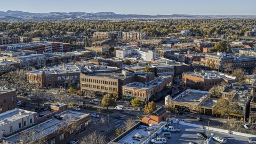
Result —
[[[142,60],[151,61],[151,59],[156,58],[156,52],[150,50],[133,49],[132,46],[123,47],[121,50],[116,50],[117,58],[126,58],[126,57],[138,57]]]

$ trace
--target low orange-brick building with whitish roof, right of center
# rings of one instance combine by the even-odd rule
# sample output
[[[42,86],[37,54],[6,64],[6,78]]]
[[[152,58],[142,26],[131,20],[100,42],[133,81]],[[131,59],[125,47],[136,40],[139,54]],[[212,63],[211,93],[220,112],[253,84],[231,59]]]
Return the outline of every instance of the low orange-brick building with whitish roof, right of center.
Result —
[[[183,73],[183,86],[190,89],[209,91],[214,85],[218,85],[221,81],[226,83],[235,83],[236,77],[218,73],[216,71],[195,71],[191,73]]]

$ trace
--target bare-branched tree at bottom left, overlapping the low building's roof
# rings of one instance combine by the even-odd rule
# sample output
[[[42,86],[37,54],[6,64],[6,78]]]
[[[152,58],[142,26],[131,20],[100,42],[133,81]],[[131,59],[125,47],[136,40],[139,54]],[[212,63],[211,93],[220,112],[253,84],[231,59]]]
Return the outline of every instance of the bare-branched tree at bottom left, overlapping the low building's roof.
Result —
[[[18,134],[18,140],[22,143],[30,144],[45,144],[46,133],[44,131],[35,131],[35,129],[29,129]]]

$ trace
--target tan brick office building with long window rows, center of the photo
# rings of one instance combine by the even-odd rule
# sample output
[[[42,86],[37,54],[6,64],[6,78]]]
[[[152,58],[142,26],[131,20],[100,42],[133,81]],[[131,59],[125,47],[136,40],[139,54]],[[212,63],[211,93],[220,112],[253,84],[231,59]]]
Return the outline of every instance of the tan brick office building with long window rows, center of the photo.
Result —
[[[123,85],[132,82],[147,83],[154,79],[154,73],[132,74],[127,70],[122,73],[81,73],[81,89],[100,92],[123,92]]]

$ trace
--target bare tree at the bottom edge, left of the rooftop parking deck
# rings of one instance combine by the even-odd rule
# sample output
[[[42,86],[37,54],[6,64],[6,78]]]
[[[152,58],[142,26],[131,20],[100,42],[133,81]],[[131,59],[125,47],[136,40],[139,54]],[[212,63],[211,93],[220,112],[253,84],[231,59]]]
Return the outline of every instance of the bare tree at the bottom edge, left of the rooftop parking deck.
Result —
[[[79,144],[106,144],[107,138],[106,135],[98,134],[96,131],[93,133],[90,133],[89,135],[86,135],[82,139],[79,140]]]

